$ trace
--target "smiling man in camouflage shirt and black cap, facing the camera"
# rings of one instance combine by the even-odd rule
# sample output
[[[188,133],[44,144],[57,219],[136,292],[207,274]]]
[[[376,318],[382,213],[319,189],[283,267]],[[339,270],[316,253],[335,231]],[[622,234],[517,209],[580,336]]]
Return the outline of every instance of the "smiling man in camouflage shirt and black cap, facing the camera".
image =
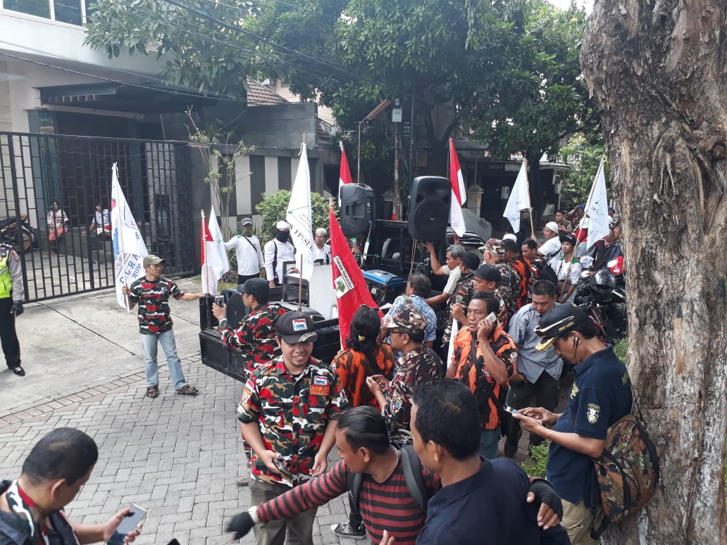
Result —
[[[326,472],[336,421],[348,408],[335,371],[311,357],[318,339],[313,319],[286,312],[278,318],[276,333],[282,355],[254,371],[237,409],[242,434],[254,451],[252,505]],[[316,511],[257,526],[257,543],[284,545],[289,530],[295,543],[313,544]]]

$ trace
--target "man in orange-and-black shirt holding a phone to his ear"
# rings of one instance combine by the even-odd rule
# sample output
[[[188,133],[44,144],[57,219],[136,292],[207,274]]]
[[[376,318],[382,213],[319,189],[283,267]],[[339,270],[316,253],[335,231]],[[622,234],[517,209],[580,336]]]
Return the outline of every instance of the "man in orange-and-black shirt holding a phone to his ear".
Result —
[[[500,438],[498,409],[515,371],[518,347],[497,322],[499,299],[476,292],[467,307],[467,328],[454,338],[447,378],[464,383],[475,395],[480,413],[480,455],[497,458]]]

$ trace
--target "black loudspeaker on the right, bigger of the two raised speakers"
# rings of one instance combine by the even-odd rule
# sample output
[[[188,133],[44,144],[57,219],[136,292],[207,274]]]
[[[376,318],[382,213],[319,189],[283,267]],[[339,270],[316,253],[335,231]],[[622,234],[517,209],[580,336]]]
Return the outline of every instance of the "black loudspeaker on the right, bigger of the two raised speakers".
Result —
[[[451,203],[449,179],[419,176],[411,182],[409,195],[409,235],[419,241],[438,241],[445,237]]]

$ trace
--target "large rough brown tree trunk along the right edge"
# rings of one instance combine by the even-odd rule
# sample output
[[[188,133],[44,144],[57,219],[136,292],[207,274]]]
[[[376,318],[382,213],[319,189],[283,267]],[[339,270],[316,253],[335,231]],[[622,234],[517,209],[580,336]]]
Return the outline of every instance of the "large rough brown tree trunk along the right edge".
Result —
[[[726,0],[595,1],[581,64],[622,210],[629,371],[662,483],[608,544],[725,544]]]

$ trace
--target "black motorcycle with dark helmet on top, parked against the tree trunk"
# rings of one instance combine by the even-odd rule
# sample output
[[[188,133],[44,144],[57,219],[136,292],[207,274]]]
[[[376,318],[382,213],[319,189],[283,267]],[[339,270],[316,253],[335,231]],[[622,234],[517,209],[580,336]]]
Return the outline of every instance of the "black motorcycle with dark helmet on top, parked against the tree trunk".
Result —
[[[619,268],[609,267],[609,270],[599,270],[592,276],[585,273],[574,303],[596,323],[601,340],[616,344],[628,333],[626,284],[622,274],[614,275],[611,270]]]

